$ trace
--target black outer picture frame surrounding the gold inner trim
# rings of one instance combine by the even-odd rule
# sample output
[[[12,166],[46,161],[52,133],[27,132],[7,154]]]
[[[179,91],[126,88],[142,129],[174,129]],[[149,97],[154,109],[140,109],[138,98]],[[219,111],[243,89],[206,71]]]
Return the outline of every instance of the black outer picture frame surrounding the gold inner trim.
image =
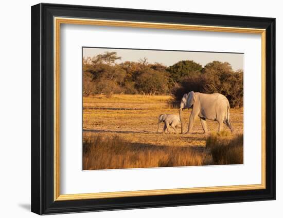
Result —
[[[266,29],[266,189],[54,201],[54,16]],[[275,18],[38,4],[31,7],[31,211],[55,214],[275,200]]]

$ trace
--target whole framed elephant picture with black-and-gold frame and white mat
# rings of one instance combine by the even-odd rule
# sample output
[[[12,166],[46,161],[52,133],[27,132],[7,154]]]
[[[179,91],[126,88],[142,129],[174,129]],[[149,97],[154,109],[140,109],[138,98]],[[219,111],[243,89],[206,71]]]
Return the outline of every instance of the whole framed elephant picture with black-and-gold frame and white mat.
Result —
[[[275,200],[275,18],[31,7],[31,211]]]

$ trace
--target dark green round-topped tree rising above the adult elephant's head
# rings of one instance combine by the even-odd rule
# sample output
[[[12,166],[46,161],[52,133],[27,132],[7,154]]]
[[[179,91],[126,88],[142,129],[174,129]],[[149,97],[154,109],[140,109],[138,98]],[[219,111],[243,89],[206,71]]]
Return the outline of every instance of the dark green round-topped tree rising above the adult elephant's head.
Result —
[[[168,67],[167,71],[172,83],[181,83],[185,77],[201,73],[202,66],[194,61],[180,61]]]

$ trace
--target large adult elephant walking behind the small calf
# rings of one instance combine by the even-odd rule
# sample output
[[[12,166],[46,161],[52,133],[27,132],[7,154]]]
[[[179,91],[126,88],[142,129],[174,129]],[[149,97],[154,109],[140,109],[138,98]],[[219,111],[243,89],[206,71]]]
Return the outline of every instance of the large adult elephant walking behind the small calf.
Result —
[[[222,129],[222,124],[226,124],[227,127],[233,133],[234,128],[230,121],[230,105],[227,98],[219,93],[204,94],[200,92],[189,92],[184,94],[180,103],[180,121],[181,121],[181,132],[184,133],[184,120],[182,111],[185,108],[192,107],[189,126],[187,133],[192,130],[193,122],[197,116],[200,117],[203,133],[206,133],[206,119],[218,122],[218,132]]]

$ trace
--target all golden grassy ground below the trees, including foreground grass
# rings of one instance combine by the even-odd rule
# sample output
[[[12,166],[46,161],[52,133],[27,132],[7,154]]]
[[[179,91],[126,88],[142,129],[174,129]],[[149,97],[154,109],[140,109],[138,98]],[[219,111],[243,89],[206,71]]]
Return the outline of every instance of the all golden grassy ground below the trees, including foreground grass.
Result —
[[[91,95],[83,97],[83,169],[196,166],[243,163],[243,108],[231,109],[232,135],[223,124],[199,120],[192,134],[157,133],[160,114],[178,114],[170,95]],[[185,128],[190,110],[184,110]]]

